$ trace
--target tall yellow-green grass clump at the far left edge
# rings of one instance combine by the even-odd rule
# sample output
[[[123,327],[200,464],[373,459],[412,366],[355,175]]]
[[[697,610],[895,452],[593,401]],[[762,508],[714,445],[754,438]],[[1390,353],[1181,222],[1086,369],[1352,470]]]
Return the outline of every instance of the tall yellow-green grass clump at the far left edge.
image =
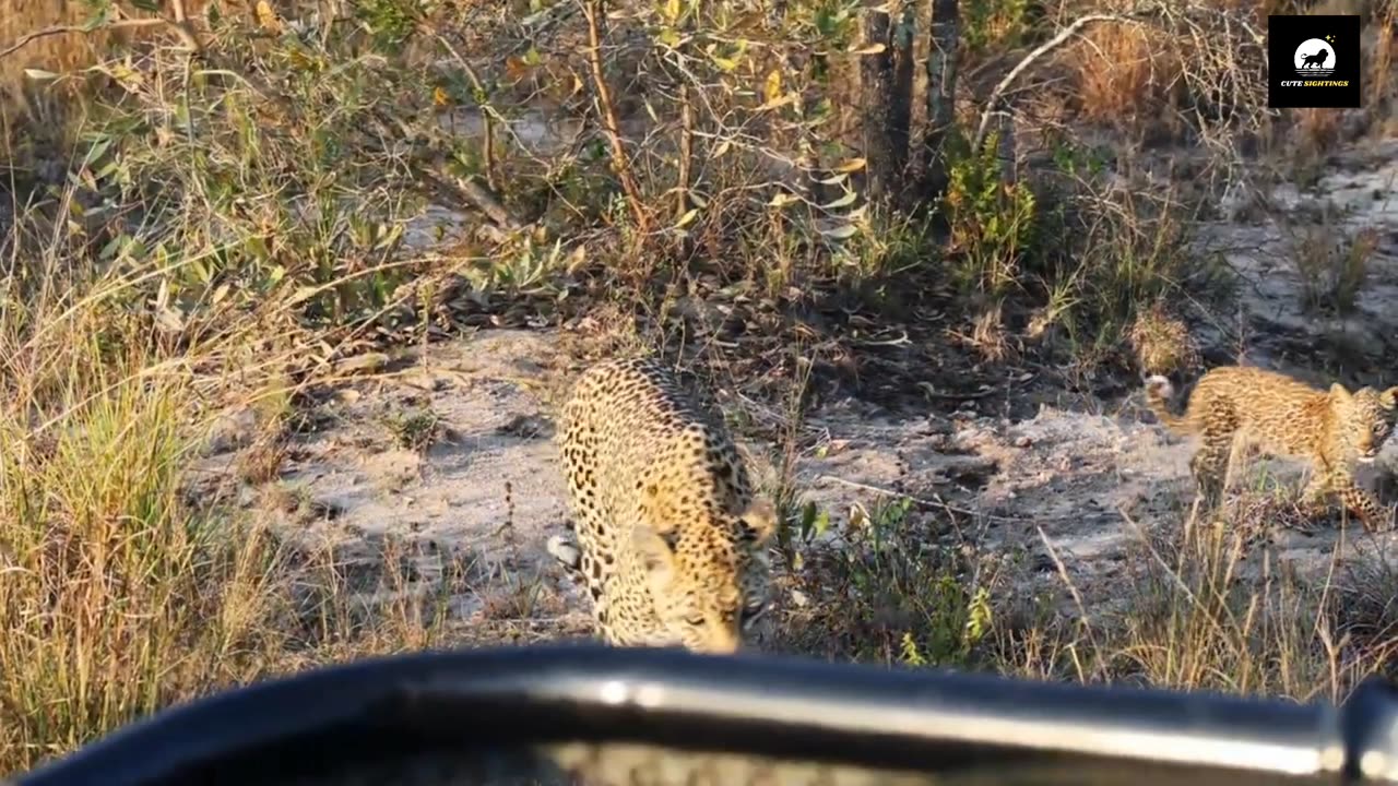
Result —
[[[159,352],[113,308],[120,276],[62,239],[28,245],[10,248],[0,303],[4,772],[246,678],[277,596],[264,533],[182,485],[204,408],[192,366],[221,348]]]

